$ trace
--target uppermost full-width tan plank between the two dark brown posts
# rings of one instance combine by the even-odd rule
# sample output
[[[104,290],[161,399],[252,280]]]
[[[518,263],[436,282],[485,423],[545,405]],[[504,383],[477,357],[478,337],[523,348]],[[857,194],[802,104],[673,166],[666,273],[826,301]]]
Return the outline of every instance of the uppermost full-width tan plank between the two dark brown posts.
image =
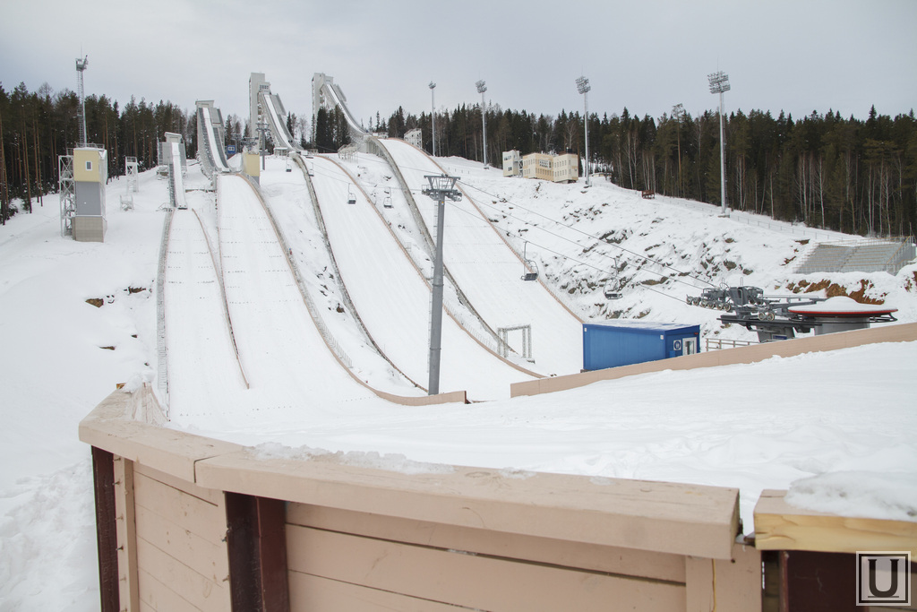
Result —
[[[138,506],[168,518],[204,540],[219,542],[226,537],[226,516],[219,506],[140,473],[135,474],[134,490]]]

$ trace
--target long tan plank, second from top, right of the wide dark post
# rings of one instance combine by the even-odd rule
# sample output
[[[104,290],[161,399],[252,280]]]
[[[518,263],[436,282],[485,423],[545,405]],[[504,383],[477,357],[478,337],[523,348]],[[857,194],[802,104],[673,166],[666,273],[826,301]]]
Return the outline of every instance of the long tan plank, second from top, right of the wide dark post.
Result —
[[[292,572],[483,610],[685,610],[682,584],[289,526]]]

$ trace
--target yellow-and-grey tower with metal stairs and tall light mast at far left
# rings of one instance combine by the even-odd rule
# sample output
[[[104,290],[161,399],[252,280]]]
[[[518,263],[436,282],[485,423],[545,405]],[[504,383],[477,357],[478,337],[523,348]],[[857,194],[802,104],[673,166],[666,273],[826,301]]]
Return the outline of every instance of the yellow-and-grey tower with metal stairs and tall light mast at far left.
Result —
[[[61,186],[61,236],[81,242],[105,241],[105,183],[108,181],[108,151],[86,142],[86,114],[83,106],[83,72],[88,58],[76,61],[77,91],[80,95],[80,141],[69,155],[58,158]]]

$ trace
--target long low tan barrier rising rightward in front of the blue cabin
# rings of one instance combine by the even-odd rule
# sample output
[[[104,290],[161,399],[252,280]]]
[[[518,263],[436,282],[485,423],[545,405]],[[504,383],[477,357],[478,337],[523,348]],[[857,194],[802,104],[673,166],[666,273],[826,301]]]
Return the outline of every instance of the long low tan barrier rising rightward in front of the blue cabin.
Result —
[[[856,329],[824,336],[812,336],[811,338],[766,342],[725,351],[707,351],[695,355],[663,359],[657,362],[635,363],[634,365],[624,365],[619,368],[526,381],[510,385],[510,395],[516,397],[518,395],[554,393],[636,374],[663,372],[665,370],[713,368],[719,365],[733,365],[736,363],[755,363],[763,362],[771,357],[793,357],[807,352],[836,351],[864,344],[908,342],[912,340],[917,340],[917,323],[883,325],[878,328]]]

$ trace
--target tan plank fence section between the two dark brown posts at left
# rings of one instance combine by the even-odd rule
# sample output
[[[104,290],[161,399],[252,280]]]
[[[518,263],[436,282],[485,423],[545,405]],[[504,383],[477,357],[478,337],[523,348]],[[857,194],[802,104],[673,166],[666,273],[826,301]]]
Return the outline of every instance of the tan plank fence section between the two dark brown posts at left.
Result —
[[[123,529],[127,551],[124,562],[119,560],[119,573],[125,582],[132,579],[131,573],[136,573],[136,587],[131,590],[135,602],[125,601],[122,594],[122,609],[230,609],[223,492],[204,489],[138,463],[123,462],[130,464],[133,473],[135,527],[134,538],[129,529]],[[126,506],[130,506],[129,502]],[[122,544],[120,534],[119,531]],[[133,566],[130,555],[136,558]]]

